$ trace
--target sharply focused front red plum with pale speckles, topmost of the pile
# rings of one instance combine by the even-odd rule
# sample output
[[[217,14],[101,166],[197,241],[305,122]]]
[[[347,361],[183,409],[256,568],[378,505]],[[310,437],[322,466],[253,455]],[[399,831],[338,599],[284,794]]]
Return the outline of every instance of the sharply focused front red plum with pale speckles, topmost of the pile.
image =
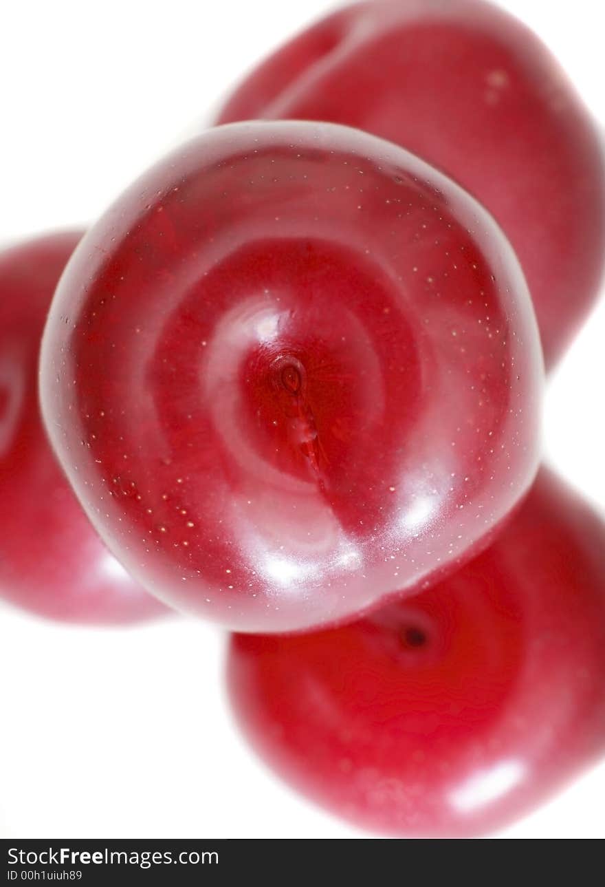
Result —
[[[508,242],[422,161],[330,124],[211,130],[144,175],[68,266],[41,381],[107,545],[239,631],[417,590],[538,459]]]

